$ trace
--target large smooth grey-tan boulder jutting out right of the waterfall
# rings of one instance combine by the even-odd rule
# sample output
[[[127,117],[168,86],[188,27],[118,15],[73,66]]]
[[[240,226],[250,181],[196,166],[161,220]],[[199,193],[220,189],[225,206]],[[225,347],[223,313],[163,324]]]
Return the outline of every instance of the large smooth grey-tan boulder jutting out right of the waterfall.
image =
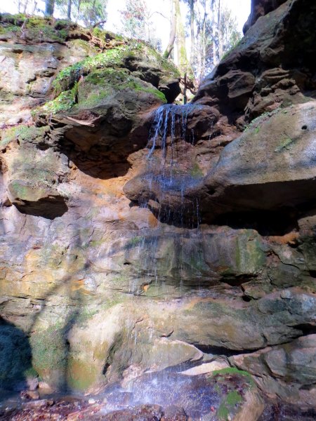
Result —
[[[205,178],[215,213],[312,206],[315,110],[307,102],[264,115],[223,149]]]

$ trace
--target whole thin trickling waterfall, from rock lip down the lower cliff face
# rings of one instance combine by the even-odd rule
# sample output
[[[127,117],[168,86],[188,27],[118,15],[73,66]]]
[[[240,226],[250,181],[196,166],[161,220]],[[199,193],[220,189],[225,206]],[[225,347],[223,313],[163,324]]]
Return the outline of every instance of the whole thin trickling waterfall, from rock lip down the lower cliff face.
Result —
[[[190,266],[190,262],[185,262],[183,241],[192,235],[199,237],[199,200],[186,201],[185,192],[194,188],[199,179],[190,174],[190,168],[187,171],[180,168],[180,161],[190,162],[192,157],[195,134],[187,121],[190,112],[198,107],[164,105],[154,112],[142,176],[147,194],[138,203],[141,208],[154,211],[160,222],[157,227],[147,229],[136,246],[139,269],[130,282],[130,292],[136,295],[143,293],[144,285],[165,286],[164,281],[168,278],[176,281],[181,290],[184,265]],[[162,207],[157,210],[159,205]],[[177,235],[169,232],[169,225],[178,227]],[[165,255],[162,250],[171,246],[169,243],[172,243],[172,249]],[[199,251],[196,254],[197,260],[202,259]]]

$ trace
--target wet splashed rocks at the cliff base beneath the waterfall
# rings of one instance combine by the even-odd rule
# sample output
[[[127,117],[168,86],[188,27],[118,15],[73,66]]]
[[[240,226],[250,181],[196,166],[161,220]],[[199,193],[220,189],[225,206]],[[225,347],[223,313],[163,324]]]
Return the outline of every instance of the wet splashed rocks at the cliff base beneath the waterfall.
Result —
[[[0,419],[35,420],[46,414],[53,420],[187,421],[239,416],[256,420],[263,411],[251,377],[233,368],[193,377],[149,373],[131,380],[125,388],[132,392],[117,387],[88,401],[67,397],[55,402],[28,401],[18,410],[2,410]]]

